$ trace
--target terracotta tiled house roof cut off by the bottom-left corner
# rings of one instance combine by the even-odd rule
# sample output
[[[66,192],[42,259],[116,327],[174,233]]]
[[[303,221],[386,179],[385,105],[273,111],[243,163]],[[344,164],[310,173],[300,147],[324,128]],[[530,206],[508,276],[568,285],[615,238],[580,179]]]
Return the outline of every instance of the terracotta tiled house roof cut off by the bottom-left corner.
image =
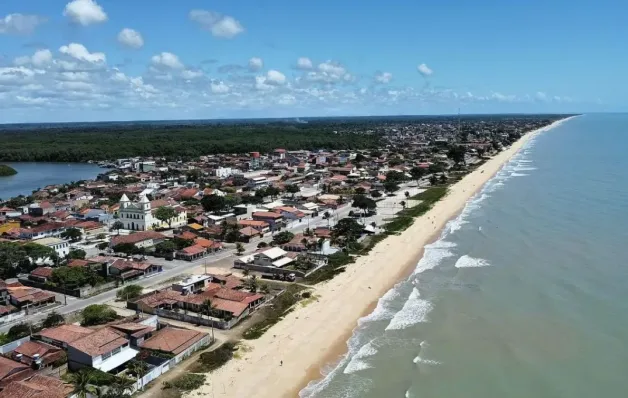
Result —
[[[35,374],[12,381],[0,391],[0,398],[66,398],[74,387],[54,377]]]

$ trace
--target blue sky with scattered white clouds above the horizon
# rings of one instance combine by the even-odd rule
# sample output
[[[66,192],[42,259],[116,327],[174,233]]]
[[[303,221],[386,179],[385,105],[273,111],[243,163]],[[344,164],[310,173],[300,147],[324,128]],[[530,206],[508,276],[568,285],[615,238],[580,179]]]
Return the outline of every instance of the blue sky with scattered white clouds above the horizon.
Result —
[[[621,112],[615,0],[2,0],[0,123]]]

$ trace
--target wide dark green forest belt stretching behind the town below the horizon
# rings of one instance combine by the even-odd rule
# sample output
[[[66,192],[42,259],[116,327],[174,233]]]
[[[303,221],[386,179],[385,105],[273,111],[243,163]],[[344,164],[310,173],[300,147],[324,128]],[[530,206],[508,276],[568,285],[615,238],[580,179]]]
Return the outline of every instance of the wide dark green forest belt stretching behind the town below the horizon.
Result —
[[[5,131],[0,136],[0,159],[6,161],[82,162],[132,156],[188,159],[215,153],[288,150],[376,148],[380,136],[335,134],[333,124],[300,125],[135,125],[109,127],[53,127]],[[120,145],[124,140],[125,145]]]

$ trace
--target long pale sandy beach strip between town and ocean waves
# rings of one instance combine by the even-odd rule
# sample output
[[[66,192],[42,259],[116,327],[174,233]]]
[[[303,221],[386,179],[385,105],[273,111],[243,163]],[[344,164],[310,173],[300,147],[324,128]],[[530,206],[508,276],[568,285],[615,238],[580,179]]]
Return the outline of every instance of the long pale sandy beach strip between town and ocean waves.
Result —
[[[209,374],[207,384],[191,395],[297,397],[308,382],[321,377],[323,366],[346,352],[346,341],[358,319],[372,311],[377,300],[415,268],[423,247],[438,236],[467,200],[531,137],[565,120],[526,134],[451,186],[443,200],[402,234],[388,237],[346,272],[316,286],[316,302],[298,306],[261,338],[244,341],[246,354]]]

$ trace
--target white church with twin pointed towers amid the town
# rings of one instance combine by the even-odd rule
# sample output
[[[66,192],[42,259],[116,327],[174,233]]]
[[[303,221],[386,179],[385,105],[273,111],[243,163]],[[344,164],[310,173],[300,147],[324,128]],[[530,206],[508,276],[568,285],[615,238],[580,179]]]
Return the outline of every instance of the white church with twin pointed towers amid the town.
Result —
[[[159,203],[157,203],[159,202]],[[163,202],[163,203],[161,203]],[[162,222],[153,216],[153,211],[161,206],[171,206],[177,210],[178,215],[173,218],[171,225]],[[149,231],[161,228],[179,228],[187,225],[187,211],[176,203],[166,201],[150,202],[146,195],[141,195],[137,202],[131,202],[129,197],[122,195],[120,198],[119,220],[124,224],[124,229],[131,231]]]

